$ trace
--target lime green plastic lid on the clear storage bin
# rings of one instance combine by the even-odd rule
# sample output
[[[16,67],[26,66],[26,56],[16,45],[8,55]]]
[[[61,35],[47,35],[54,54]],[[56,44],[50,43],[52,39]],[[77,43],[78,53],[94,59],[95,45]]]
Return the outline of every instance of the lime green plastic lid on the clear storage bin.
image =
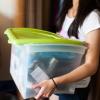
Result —
[[[33,28],[8,28],[4,32],[11,44],[74,44],[84,45],[79,40],[64,39],[55,33]]]

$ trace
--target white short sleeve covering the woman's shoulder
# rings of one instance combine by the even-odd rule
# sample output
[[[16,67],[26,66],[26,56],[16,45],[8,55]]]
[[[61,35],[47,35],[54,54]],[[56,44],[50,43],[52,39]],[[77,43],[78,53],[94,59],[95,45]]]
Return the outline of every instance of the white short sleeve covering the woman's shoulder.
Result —
[[[95,9],[86,17],[80,30],[82,30],[83,33],[88,33],[98,28],[100,28],[100,12]]]

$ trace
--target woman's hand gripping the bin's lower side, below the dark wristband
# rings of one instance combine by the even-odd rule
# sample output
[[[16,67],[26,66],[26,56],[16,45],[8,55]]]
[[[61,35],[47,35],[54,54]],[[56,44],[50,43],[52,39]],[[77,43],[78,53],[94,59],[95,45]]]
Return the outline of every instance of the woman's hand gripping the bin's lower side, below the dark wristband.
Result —
[[[33,84],[32,88],[40,88],[39,93],[35,96],[35,99],[40,99],[42,97],[50,97],[55,91],[55,84],[52,79],[49,79]]]

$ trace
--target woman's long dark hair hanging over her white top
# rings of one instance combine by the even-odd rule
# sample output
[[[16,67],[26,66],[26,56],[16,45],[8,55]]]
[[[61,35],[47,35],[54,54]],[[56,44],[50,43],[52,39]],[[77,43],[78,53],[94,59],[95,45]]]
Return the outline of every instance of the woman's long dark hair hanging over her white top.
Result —
[[[63,24],[66,14],[68,13],[68,10],[72,7],[72,1],[73,0],[63,1],[62,10],[57,16],[57,22],[56,22],[56,31],[58,32],[62,28],[62,24]],[[96,5],[97,1],[96,0],[79,0],[77,15],[68,29],[69,37],[75,36],[76,38],[78,38],[78,27],[79,26],[81,27],[84,19],[87,17],[87,15],[90,14],[91,11],[93,11],[94,9],[97,9],[97,5]]]

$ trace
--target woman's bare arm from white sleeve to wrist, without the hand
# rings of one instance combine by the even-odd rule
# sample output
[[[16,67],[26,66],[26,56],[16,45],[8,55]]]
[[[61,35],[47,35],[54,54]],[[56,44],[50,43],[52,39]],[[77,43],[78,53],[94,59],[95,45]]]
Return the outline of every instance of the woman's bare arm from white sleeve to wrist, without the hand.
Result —
[[[68,74],[55,77],[56,84],[79,81],[93,75],[97,71],[100,52],[100,29],[87,33],[86,42],[88,43],[88,50],[85,63]]]

